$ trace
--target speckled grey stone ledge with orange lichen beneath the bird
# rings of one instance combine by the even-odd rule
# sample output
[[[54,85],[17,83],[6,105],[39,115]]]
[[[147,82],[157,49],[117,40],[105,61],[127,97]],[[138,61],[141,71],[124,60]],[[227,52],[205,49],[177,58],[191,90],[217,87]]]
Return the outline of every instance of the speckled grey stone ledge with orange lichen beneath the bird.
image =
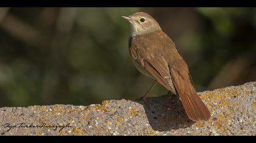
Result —
[[[0,135],[256,135],[256,82],[200,95],[212,113],[207,122],[190,121],[177,96],[161,96],[87,107],[4,107]]]

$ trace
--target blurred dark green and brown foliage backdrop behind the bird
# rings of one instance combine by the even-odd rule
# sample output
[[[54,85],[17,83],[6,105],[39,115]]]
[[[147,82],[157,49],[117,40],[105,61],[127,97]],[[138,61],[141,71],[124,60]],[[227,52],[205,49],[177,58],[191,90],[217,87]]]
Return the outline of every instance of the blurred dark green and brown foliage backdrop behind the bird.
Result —
[[[176,43],[197,91],[256,81],[256,8],[0,8],[0,107],[143,96],[153,81],[133,66],[121,18],[139,11]]]

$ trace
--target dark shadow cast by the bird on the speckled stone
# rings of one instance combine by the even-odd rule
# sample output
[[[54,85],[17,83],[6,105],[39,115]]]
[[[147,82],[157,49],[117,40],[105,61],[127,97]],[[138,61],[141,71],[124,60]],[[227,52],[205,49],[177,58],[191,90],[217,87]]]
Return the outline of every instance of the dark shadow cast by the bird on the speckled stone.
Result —
[[[156,131],[187,128],[194,124],[188,119],[182,102],[176,95],[136,100],[143,105],[149,124]]]

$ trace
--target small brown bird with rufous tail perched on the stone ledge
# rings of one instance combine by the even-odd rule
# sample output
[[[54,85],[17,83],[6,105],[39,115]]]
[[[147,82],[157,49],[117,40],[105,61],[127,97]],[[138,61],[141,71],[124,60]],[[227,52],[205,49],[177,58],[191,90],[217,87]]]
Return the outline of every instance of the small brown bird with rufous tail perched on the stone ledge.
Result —
[[[157,21],[143,12],[122,17],[131,25],[129,50],[133,64],[143,75],[155,79],[144,99],[159,82],[172,93],[179,95],[188,118],[193,121],[210,119],[210,111],[194,88],[188,65]]]

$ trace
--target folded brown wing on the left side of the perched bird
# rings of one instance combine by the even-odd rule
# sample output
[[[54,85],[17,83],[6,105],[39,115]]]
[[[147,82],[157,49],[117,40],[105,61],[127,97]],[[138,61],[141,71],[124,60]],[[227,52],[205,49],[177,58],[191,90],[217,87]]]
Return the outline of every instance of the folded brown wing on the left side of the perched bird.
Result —
[[[137,37],[130,44],[130,55],[141,67],[144,67],[149,74],[168,90],[173,90],[171,75],[168,68],[168,61],[163,56],[163,48],[159,48],[159,43],[148,44],[148,39],[155,39],[157,36]],[[144,41],[144,42],[141,42]]]

